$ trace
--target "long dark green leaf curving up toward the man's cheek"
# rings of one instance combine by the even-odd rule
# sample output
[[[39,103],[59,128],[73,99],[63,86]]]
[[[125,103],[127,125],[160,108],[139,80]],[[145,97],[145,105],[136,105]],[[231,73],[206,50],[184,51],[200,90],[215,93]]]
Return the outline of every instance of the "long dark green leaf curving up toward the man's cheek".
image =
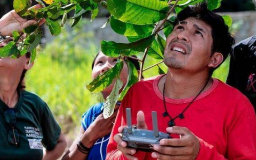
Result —
[[[143,52],[155,38],[155,34],[147,38],[140,39],[132,43],[116,43],[113,41],[101,41],[101,51],[109,57],[118,57],[119,55],[133,55]]]

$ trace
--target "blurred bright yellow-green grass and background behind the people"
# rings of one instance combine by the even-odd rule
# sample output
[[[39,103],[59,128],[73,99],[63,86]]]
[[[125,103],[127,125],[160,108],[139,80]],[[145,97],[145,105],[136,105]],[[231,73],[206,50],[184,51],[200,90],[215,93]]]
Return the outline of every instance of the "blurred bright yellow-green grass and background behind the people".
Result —
[[[72,30],[63,28],[53,42],[41,48],[34,67],[26,76],[27,90],[48,103],[69,139],[74,139],[79,131],[83,113],[100,99],[102,101],[100,94],[91,94],[85,87],[91,82],[91,64],[100,50],[99,44],[92,41],[93,33],[83,31],[85,23]],[[141,58],[142,54],[138,56]],[[159,61],[147,56],[145,68]],[[163,63],[159,66],[166,73],[166,66]],[[214,72],[214,77],[226,81],[228,68],[229,60]],[[143,73],[145,78],[156,75],[157,66]]]

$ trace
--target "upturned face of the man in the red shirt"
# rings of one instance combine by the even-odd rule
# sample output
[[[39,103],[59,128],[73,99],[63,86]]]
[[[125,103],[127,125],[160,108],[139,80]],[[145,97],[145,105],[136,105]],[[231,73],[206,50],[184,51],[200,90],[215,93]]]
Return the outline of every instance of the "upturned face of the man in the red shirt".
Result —
[[[167,37],[164,63],[173,69],[192,72],[207,68],[213,44],[212,29],[195,18],[180,21]]]

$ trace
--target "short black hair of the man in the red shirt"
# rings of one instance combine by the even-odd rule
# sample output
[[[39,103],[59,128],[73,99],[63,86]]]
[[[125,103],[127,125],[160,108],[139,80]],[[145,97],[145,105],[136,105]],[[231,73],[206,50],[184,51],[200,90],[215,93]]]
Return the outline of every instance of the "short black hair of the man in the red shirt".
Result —
[[[223,55],[222,62],[224,62],[228,57],[228,54],[233,51],[232,45],[235,44],[235,38],[229,33],[229,28],[225,24],[223,18],[220,15],[208,10],[207,3],[199,3],[194,6],[188,6],[182,10],[177,15],[174,26],[177,25],[179,21],[186,20],[190,17],[201,20],[211,27],[213,39],[212,53],[220,52]],[[212,74],[217,68],[210,70],[210,74]]]

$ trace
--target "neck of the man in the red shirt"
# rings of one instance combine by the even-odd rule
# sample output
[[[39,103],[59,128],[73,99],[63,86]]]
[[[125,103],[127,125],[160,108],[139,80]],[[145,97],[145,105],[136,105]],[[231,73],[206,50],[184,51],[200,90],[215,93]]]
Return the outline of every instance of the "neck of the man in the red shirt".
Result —
[[[212,79],[209,80],[209,75],[198,74],[179,74],[169,71],[167,75],[161,78],[158,83],[158,88],[163,92],[163,86],[165,83],[165,96],[172,99],[187,99],[195,97],[205,86],[204,90],[207,91],[212,85]],[[206,84],[207,83],[207,84]]]

